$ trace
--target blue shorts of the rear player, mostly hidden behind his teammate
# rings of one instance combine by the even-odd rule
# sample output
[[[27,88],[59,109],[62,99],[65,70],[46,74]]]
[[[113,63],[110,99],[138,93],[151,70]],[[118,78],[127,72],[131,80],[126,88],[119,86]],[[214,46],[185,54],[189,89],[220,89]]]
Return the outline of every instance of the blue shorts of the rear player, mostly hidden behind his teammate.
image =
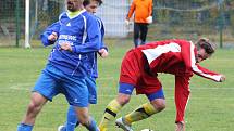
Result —
[[[88,87],[88,101],[90,104],[97,104],[97,86],[96,78],[86,77],[85,82]]]

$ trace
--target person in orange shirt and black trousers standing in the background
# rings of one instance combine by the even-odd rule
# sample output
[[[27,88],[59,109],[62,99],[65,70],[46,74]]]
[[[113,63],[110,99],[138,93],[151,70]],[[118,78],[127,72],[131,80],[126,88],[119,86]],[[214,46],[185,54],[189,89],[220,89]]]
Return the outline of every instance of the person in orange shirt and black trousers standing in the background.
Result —
[[[125,23],[134,15],[134,44],[135,48],[145,44],[148,25],[152,23],[152,0],[133,0]]]

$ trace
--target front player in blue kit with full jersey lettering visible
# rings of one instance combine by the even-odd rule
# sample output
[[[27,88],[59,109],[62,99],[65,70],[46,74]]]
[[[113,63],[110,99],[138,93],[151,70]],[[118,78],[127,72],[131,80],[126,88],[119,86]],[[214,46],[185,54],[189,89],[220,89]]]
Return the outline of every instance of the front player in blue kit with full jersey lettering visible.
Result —
[[[83,6],[84,0],[66,0],[67,12],[60,15],[41,35],[45,47],[54,44],[48,64],[37,80],[27,112],[17,131],[32,131],[36,116],[47,101],[59,93],[73,105],[79,122],[89,131],[98,131],[88,115],[88,88],[85,78],[96,65],[94,53],[100,50],[101,34],[94,15]]]

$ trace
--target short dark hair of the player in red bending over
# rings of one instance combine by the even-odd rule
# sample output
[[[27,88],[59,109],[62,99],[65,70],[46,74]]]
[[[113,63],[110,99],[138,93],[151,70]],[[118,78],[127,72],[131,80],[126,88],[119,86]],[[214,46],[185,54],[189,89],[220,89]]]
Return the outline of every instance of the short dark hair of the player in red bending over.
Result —
[[[213,54],[215,52],[215,45],[209,41],[207,38],[201,38],[196,43],[197,49],[205,49],[208,54]]]

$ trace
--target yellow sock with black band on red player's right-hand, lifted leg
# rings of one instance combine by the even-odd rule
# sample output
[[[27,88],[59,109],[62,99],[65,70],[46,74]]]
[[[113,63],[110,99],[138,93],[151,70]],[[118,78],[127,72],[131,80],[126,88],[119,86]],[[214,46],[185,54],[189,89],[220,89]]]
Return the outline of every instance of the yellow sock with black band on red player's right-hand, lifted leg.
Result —
[[[156,113],[158,113],[156,108],[150,103],[146,103],[139,106],[138,108],[136,108],[131,114],[123,117],[123,119],[124,119],[124,122],[126,122],[127,125],[131,125],[135,121],[146,119]]]

